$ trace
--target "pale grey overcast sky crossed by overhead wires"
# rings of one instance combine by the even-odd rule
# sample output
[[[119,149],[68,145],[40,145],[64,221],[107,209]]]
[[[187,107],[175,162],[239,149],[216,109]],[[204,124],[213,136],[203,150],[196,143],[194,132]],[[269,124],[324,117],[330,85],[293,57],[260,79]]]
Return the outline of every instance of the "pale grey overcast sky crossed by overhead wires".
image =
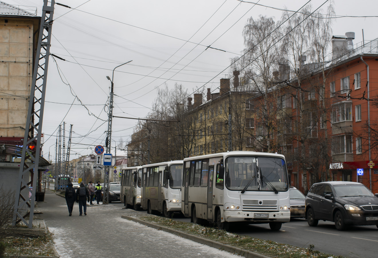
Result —
[[[33,6],[38,16],[42,13],[42,0],[3,2],[20,5],[22,9]],[[261,5],[289,10],[298,10],[306,2],[258,1]],[[311,0],[309,4],[316,9],[324,2]],[[114,73],[117,96],[113,115],[143,118],[156,97],[156,87],[167,84],[171,89],[179,83],[189,92],[202,86],[215,90],[219,80],[229,72],[230,59],[244,48],[242,31],[247,19],[266,15],[279,20],[282,14],[276,9],[238,0],[59,0],[56,3],[79,7],[74,10],[55,5],[50,51],[66,61],[56,59],[55,62],[50,57],[48,67],[43,156],[47,159],[50,151],[53,160],[57,128],[63,121],[66,142],[73,124],[70,159],[93,154],[96,145],[104,145],[111,85],[106,76],[112,78],[116,66],[132,60]],[[322,9],[326,10],[329,4],[330,1]],[[333,4],[339,16],[375,16],[378,5],[374,0],[335,0]],[[378,37],[374,25],[377,20],[377,17],[334,19],[333,34],[355,32],[353,43],[356,44],[363,40],[363,29],[364,39],[372,40]],[[226,52],[206,50],[209,45]],[[112,139],[117,145],[121,138],[130,141],[136,124],[137,120],[113,118]],[[117,151],[117,155],[125,152]]]

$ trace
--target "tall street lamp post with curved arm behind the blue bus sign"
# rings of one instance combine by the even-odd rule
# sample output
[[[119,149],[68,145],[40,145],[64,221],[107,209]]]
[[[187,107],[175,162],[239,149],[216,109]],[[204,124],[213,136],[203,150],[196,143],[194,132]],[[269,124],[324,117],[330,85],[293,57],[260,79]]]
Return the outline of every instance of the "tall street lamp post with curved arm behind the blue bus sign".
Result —
[[[124,64],[130,63],[131,61],[125,62]],[[110,100],[109,100],[108,131],[107,131],[107,136],[106,136],[106,141],[105,141],[106,153],[110,153],[111,146],[112,146],[114,70],[116,70],[116,68],[118,68],[118,67],[120,67],[120,66],[122,66],[124,64],[118,65],[117,67],[115,67],[113,69],[112,79],[110,79],[109,76],[106,76],[106,78],[112,83],[112,88],[110,89]],[[110,171],[110,167],[109,166],[105,166],[104,198],[102,199],[102,204],[108,204],[108,202],[109,202],[109,171]],[[105,190],[105,185],[107,185],[106,190]]]

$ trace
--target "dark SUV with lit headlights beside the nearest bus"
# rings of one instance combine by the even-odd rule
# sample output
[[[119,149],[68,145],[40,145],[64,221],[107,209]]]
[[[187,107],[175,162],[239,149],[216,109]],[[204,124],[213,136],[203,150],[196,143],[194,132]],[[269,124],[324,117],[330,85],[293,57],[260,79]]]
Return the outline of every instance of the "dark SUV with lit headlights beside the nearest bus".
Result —
[[[377,197],[361,183],[314,183],[305,199],[308,225],[316,227],[322,219],[334,221],[338,230],[347,224],[378,227]]]

